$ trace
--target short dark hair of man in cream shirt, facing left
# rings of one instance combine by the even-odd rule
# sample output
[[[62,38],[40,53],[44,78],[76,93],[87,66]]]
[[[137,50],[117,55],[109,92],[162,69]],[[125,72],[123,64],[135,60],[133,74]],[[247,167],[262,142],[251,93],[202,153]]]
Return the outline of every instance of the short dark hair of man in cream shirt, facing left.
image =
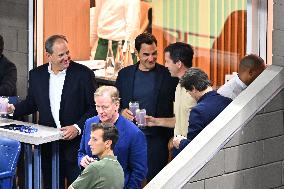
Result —
[[[191,68],[194,52],[189,44],[176,42],[167,46],[164,52],[170,53],[170,58],[174,63],[181,61],[187,68]]]

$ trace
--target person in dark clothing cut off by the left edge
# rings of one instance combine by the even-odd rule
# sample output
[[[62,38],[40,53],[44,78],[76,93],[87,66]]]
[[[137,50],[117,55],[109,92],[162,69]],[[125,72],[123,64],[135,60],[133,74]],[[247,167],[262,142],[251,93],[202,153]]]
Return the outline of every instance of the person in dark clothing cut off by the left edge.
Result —
[[[4,40],[0,35],[0,96],[17,95],[17,68],[2,53]]]

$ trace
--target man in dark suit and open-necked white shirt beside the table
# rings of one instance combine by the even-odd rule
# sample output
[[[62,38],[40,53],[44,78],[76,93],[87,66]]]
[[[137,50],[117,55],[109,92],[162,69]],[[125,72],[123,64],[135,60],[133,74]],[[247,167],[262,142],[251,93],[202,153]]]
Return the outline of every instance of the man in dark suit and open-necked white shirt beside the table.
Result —
[[[62,131],[59,144],[60,188],[64,178],[70,185],[80,174],[77,151],[87,118],[94,116],[95,76],[89,68],[71,61],[65,36],[53,35],[45,42],[49,63],[29,73],[26,99],[10,106],[14,117],[39,112],[39,124]],[[51,187],[51,144],[42,145],[45,188]]]

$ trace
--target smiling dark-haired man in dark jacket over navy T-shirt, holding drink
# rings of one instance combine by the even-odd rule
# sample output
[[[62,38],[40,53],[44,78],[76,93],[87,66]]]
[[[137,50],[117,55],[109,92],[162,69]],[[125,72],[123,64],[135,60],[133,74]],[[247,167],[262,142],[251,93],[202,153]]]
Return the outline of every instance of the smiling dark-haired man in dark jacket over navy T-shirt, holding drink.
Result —
[[[121,97],[121,114],[133,121],[134,116],[128,106],[130,101],[138,101],[140,109],[146,109],[147,115],[173,117],[178,79],[172,78],[167,68],[156,63],[156,38],[149,33],[137,36],[135,53],[140,61],[122,69],[116,81]],[[167,144],[173,130],[165,127],[146,127],[141,130],[147,139],[149,182],[168,162]]]

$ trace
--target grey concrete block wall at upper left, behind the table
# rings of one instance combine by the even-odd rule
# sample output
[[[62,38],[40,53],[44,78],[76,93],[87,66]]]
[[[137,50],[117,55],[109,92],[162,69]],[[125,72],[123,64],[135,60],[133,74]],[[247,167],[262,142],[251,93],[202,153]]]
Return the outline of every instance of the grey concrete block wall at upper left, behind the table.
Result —
[[[3,54],[18,72],[17,94],[24,98],[28,80],[28,0],[0,0],[0,34]]]

